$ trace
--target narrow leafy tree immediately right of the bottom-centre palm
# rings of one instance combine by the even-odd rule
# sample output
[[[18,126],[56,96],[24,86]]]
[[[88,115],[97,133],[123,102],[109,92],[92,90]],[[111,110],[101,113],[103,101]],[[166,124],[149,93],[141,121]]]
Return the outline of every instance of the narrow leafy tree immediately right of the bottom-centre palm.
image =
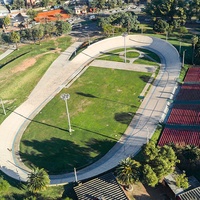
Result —
[[[155,185],[159,181],[156,176],[156,173],[153,171],[153,169],[148,164],[144,165],[143,180],[146,184],[148,184],[151,187],[155,187]]]

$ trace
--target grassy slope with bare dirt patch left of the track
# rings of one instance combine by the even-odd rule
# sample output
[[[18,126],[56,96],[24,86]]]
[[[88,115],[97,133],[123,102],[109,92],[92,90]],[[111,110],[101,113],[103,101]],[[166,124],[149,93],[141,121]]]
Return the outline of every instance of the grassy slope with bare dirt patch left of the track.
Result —
[[[0,97],[9,115],[26,100],[50,64],[71,44],[70,37],[24,45],[0,61]],[[0,123],[5,119],[0,108]]]

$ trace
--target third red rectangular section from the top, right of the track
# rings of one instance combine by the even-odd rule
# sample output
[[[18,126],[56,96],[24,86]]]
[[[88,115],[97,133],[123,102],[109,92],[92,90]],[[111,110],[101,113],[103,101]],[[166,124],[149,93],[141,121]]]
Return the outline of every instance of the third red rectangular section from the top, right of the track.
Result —
[[[176,104],[167,120],[168,124],[200,125],[200,105]]]

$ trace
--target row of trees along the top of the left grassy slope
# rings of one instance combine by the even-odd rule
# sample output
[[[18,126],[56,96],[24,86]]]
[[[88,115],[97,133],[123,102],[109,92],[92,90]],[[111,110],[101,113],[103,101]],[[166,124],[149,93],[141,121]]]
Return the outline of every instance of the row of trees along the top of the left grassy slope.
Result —
[[[55,23],[49,22],[45,24],[40,24],[31,29],[22,29],[20,31],[12,31],[9,34],[3,33],[1,35],[3,41],[13,42],[16,44],[16,49],[18,48],[18,43],[24,40],[41,41],[44,37],[51,37],[52,35],[62,35],[64,33],[69,33],[71,31],[71,25],[68,22],[56,21]]]

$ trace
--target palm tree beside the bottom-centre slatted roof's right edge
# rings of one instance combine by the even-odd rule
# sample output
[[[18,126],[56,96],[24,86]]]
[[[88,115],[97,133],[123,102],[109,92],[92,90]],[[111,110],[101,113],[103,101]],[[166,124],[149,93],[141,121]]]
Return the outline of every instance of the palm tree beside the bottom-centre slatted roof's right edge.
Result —
[[[116,169],[119,183],[130,189],[131,184],[137,182],[140,178],[140,166],[139,162],[130,157],[122,160]]]

